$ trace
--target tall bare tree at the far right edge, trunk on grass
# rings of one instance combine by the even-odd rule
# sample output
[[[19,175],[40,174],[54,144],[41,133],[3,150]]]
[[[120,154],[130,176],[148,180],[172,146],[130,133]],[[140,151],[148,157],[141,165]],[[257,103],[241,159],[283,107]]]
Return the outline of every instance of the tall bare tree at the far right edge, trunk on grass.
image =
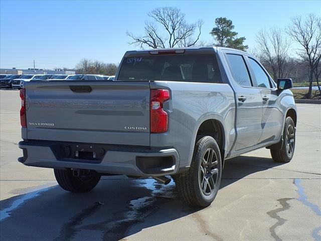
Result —
[[[295,17],[286,31],[302,47],[299,56],[309,67],[309,90],[306,97],[311,98],[313,72],[321,58],[321,18],[314,14],[307,15],[304,20],[300,16]]]

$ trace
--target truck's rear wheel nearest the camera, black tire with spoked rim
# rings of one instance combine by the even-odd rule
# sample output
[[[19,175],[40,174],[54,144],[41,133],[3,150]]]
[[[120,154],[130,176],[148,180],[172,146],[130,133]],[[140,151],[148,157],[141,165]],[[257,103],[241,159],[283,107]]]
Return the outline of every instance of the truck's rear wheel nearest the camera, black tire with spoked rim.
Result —
[[[212,137],[201,138],[195,145],[189,171],[175,176],[180,198],[190,206],[209,206],[219,190],[221,173],[219,146]]]

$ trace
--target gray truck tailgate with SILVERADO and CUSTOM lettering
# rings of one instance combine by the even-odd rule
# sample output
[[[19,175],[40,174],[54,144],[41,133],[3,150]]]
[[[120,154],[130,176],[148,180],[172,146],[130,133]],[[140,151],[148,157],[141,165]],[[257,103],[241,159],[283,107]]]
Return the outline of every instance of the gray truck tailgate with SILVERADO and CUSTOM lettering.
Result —
[[[148,82],[30,82],[30,140],[149,146]]]

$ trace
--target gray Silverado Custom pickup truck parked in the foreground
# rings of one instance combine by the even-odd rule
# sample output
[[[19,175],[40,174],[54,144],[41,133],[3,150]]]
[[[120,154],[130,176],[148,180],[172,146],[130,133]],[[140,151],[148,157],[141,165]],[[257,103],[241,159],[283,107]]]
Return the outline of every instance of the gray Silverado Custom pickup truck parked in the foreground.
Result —
[[[238,50],[128,51],[115,81],[26,83],[19,161],[53,168],[71,192],[102,175],[173,178],[183,201],[208,206],[225,160],[264,147],[276,162],[292,159],[291,87]]]

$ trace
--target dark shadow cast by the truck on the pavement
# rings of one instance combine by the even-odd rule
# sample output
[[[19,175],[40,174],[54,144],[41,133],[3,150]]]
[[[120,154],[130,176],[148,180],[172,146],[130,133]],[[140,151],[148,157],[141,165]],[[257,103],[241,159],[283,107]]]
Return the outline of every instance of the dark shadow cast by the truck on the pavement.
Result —
[[[221,188],[278,165],[281,163],[270,158],[240,156],[228,160]],[[153,179],[123,176],[103,177],[87,194],[68,193],[53,186],[0,204],[3,240],[119,240],[201,210],[179,200],[173,181],[161,185]]]

